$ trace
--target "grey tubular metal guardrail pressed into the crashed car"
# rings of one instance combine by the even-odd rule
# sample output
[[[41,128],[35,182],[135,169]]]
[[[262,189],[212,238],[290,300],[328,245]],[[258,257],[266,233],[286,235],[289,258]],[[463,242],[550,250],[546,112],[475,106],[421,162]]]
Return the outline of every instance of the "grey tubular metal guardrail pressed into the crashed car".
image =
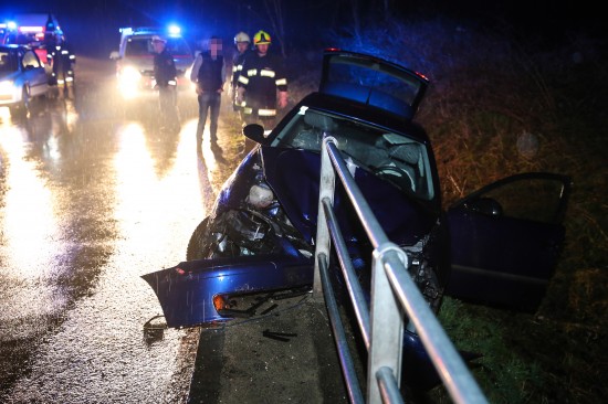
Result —
[[[327,306],[350,402],[371,404],[403,402],[399,383],[403,328],[407,318],[416,328],[453,402],[488,403],[471,372],[408,274],[406,253],[387,238],[350,176],[336,145],[335,138],[326,137],[322,146],[313,293],[315,298],[324,299]],[[333,211],[336,173],[375,248],[369,307],[353,269]],[[366,400],[357,380],[329,284],[328,257],[332,242],[368,350]],[[407,317],[403,316],[403,310]]]

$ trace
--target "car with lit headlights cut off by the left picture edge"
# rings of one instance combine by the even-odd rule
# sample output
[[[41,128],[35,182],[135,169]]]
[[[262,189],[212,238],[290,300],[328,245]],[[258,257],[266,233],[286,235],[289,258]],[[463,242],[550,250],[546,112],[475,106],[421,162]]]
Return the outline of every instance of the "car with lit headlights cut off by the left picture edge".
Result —
[[[0,106],[13,117],[24,117],[31,102],[49,92],[44,66],[35,52],[23,45],[0,45]]]

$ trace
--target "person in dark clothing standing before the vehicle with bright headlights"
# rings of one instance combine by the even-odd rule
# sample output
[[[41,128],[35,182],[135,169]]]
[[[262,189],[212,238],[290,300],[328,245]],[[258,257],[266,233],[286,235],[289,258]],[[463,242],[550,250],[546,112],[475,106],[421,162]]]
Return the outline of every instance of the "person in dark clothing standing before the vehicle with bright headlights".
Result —
[[[167,41],[158,35],[151,40],[154,46],[154,79],[158,89],[160,113],[163,115],[163,128],[167,125],[172,129],[179,127],[177,116],[177,68],[174,56],[167,51]]]

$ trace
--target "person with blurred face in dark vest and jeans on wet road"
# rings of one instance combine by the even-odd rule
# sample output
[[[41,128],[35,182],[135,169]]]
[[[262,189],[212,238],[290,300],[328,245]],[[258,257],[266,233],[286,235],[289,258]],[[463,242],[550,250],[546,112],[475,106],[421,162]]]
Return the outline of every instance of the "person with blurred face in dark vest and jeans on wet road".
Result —
[[[220,116],[221,95],[226,82],[226,61],[222,55],[222,41],[218,36],[209,40],[209,50],[201,52],[195,60],[190,81],[197,85],[199,102],[199,121],[197,126],[197,153],[201,153],[202,135],[209,111],[209,139],[211,150],[222,152],[218,145],[218,118]]]

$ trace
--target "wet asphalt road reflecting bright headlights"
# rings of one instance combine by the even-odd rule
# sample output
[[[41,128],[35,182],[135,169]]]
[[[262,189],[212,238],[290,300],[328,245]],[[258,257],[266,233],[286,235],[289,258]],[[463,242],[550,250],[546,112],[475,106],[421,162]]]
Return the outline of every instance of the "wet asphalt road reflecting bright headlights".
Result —
[[[0,108],[2,403],[187,401],[199,329],[146,336],[161,310],[140,275],[185,259],[239,159],[197,157],[193,97],[175,134],[154,100],[125,108],[113,68],[80,59],[75,91],[25,121]],[[227,157],[230,114],[224,100]]]

